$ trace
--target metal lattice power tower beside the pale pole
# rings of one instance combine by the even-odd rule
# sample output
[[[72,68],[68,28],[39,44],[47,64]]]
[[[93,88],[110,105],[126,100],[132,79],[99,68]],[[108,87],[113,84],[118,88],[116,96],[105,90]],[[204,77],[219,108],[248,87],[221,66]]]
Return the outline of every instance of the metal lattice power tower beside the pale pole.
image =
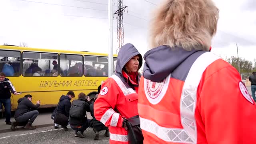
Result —
[[[123,0],[118,0],[117,2],[117,39],[116,39],[116,53],[124,45],[124,20],[123,20],[123,11],[127,6],[123,7]]]

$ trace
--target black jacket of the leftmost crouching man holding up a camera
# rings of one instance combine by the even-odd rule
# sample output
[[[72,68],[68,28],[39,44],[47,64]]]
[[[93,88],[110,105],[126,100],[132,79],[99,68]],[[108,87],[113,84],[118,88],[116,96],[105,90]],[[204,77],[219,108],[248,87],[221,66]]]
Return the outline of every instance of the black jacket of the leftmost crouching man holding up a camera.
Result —
[[[31,110],[35,110],[38,108],[40,104],[34,105],[28,98],[23,97],[18,100],[18,107],[16,108],[14,118],[17,118],[19,116],[22,116],[26,112],[30,112]]]

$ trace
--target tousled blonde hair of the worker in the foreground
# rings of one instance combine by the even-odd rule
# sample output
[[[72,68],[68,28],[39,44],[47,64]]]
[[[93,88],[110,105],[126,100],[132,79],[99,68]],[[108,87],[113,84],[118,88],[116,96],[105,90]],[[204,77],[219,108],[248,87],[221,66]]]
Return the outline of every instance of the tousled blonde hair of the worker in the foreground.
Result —
[[[150,49],[168,45],[208,51],[216,34],[218,12],[212,0],[166,0],[154,11]]]

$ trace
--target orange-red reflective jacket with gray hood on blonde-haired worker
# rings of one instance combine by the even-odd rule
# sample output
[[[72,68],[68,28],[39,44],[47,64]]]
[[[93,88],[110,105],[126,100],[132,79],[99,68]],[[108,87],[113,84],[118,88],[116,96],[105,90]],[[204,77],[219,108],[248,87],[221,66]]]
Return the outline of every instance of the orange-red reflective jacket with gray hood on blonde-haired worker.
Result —
[[[256,144],[256,105],[233,66],[211,52],[168,46],[144,60],[144,144]]]

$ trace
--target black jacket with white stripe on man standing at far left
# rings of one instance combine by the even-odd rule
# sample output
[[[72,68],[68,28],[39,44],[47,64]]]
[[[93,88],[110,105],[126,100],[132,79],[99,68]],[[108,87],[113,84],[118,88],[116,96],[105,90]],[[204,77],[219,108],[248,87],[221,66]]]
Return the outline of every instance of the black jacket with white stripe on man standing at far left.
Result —
[[[11,93],[16,92],[12,82],[8,78],[5,78],[3,82],[0,82],[0,100],[6,100],[11,97]]]

